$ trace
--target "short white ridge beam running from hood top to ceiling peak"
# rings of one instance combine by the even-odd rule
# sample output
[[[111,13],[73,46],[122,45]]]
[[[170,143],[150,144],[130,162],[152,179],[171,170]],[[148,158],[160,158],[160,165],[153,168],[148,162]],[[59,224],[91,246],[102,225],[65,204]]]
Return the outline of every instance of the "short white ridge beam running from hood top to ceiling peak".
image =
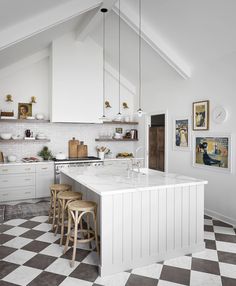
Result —
[[[101,6],[96,9],[96,11],[88,17],[83,25],[79,26],[76,30],[76,40],[83,41],[90,33],[93,31],[102,21],[102,16],[100,10],[102,8],[107,8],[110,11],[117,0],[104,0]]]

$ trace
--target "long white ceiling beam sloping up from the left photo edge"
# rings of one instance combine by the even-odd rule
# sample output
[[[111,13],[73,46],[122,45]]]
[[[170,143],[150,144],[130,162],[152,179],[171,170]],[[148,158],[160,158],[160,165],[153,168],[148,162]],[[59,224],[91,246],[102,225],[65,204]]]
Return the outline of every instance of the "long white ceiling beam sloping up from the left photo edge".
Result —
[[[66,22],[91,9],[99,7],[101,0],[73,0],[27,19],[0,32],[0,51],[27,38]]]

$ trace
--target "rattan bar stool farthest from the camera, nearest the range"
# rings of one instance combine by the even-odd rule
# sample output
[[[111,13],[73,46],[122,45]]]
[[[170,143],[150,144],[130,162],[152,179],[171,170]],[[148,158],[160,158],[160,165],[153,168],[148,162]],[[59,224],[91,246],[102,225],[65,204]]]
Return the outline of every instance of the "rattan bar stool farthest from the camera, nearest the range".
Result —
[[[72,186],[67,184],[53,184],[50,186],[50,207],[49,207],[49,214],[48,214],[48,221],[52,220],[52,230],[56,227],[56,215],[57,215],[57,195],[61,191],[71,191]]]

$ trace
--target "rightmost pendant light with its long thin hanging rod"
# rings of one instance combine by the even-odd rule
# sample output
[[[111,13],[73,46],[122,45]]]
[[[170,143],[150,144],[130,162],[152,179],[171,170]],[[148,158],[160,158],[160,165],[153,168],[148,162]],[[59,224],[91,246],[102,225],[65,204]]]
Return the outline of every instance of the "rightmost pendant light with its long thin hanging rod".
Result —
[[[142,8],[142,5],[141,5],[141,1],[142,0],[139,0],[139,56],[138,56],[138,61],[139,61],[139,88],[138,88],[138,101],[139,101],[139,108],[137,110],[138,112],[138,116],[139,117],[142,117],[143,115],[143,110],[141,108],[141,99],[142,99],[142,17],[141,17],[141,8]]]

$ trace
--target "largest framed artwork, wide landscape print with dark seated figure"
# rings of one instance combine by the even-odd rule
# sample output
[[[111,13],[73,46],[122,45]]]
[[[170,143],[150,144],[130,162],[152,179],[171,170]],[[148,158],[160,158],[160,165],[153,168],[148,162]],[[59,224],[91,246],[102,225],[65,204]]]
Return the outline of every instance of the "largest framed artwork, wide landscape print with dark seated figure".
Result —
[[[194,135],[193,166],[231,172],[231,135]]]

